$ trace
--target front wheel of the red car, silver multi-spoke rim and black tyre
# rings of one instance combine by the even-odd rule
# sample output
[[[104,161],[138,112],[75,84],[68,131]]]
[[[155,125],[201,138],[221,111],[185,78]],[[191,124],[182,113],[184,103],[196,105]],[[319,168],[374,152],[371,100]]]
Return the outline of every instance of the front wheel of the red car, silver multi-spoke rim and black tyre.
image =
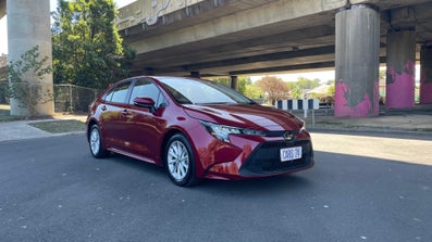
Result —
[[[196,177],[196,162],[187,138],[177,133],[169,140],[165,148],[165,167],[171,181],[181,187],[199,182]]]

